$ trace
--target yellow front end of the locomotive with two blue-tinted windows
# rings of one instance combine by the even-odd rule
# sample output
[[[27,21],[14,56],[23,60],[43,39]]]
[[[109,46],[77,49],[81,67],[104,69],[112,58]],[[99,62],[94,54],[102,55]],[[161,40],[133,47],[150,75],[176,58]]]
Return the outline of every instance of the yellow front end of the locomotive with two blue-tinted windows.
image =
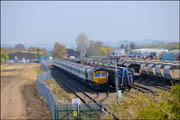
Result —
[[[93,72],[93,80],[96,84],[103,84],[108,81],[108,72],[106,71],[96,71]]]

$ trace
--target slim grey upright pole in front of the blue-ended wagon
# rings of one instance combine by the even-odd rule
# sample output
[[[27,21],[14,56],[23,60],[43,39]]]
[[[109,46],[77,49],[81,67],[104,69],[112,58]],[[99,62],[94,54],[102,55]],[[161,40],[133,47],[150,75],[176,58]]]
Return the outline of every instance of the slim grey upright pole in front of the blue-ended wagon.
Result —
[[[116,86],[116,96],[117,96],[117,104],[119,105],[119,85],[118,85],[118,73],[117,73],[117,60],[115,59],[115,67],[116,67],[116,72],[115,72],[115,86]]]

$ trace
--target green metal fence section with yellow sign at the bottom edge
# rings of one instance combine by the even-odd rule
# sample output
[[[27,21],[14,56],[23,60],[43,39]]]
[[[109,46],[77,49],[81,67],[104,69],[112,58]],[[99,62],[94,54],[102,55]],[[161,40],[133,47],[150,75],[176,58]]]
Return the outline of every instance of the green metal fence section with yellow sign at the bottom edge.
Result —
[[[102,107],[97,104],[58,104],[55,119],[100,119]]]

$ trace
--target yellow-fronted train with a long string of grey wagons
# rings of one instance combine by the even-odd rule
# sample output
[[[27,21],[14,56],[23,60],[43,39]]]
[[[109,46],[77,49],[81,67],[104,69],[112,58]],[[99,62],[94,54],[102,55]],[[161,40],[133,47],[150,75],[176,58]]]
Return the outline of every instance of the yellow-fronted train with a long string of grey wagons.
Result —
[[[93,89],[101,90],[108,87],[109,73],[102,67],[87,66],[66,60],[55,60],[54,65]]]

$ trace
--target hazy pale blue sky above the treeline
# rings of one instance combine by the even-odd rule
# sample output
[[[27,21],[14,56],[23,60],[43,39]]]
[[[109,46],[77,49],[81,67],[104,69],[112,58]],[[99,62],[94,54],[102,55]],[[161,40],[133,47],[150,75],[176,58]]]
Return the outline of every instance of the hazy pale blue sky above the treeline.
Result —
[[[119,41],[179,41],[179,1],[2,1],[1,45],[76,47],[76,37]]]

